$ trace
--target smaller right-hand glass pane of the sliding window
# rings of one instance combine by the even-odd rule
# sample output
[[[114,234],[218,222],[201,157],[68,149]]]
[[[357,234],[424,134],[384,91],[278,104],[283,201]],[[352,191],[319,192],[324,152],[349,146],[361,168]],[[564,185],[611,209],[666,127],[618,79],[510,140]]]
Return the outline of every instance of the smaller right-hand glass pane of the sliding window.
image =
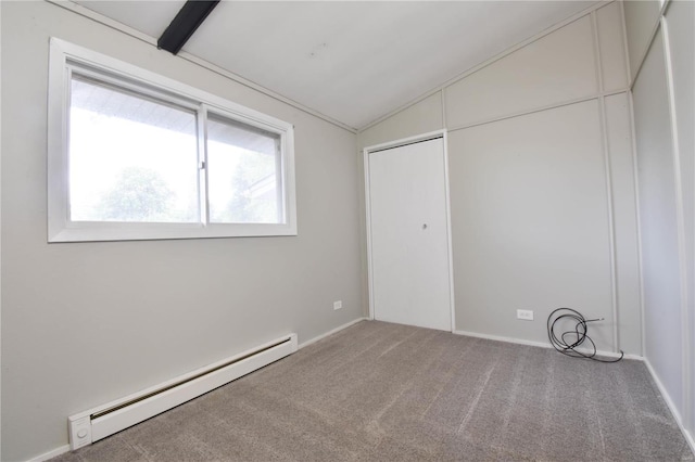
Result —
[[[208,115],[207,189],[213,223],[281,223],[280,137]]]

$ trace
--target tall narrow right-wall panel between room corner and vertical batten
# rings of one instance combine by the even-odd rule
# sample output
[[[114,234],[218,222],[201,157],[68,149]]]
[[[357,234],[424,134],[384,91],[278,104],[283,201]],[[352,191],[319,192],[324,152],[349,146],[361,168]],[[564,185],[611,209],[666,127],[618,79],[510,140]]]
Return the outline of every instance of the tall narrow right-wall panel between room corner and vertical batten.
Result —
[[[664,37],[652,43],[634,91],[640,223],[644,262],[645,356],[680,406],[681,280],[673,144]]]

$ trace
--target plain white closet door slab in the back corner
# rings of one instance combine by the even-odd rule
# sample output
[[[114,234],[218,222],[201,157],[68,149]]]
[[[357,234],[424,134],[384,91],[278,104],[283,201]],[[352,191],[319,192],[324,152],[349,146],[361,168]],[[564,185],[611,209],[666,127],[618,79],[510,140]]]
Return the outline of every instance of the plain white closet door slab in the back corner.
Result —
[[[375,319],[451,331],[444,141],[372,152],[368,163]]]

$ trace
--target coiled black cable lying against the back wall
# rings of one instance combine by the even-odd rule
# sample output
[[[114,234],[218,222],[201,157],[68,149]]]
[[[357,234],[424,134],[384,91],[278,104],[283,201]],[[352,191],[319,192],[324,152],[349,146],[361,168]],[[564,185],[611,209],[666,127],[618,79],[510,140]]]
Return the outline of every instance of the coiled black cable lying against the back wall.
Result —
[[[555,324],[557,324],[557,322],[561,319],[570,319],[577,321],[577,325],[574,325],[574,331],[565,331],[558,337],[555,334]],[[596,344],[594,344],[594,341],[592,341],[591,337],[586,335],[586,331],[589,329],[586,323],[594,321],[603,321],[603,318],[584,319],[584,317],[577,310],[573,310],[571,308],[558,308],[547,317],[547,336],[553,347],[563,355],[570,356],[572,358],[591,359],[598,362],[620,361],[624,356],[624,352],[622,352],[622,350],[620,350],[620,358],[617,359],[609,360],[596,358]],[[591,344],[591,349],[593,349],[593,351],[582,352],[577,350],[577,347],[582,345],[584,342]]]

